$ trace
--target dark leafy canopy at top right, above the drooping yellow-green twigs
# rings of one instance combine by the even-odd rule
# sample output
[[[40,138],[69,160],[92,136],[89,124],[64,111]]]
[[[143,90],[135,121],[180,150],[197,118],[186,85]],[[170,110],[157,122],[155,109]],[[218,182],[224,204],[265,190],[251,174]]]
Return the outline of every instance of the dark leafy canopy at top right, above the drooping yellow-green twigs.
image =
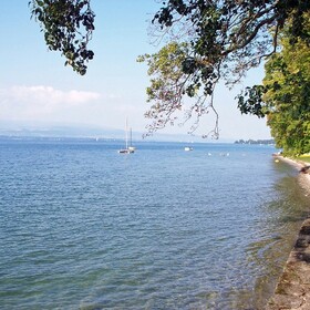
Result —
[[[301,38],[310,44],[309,31],[304,29],[308,0],[168,0],[163,4],[153,23],[162,30],[180,30],[182,25],[186,32],[180,40],[190,43],[194,68],[202,58],[214,64],[240,56],[244,69],[251,68],[275,52],[278,32],[288,20],[291,42]]]

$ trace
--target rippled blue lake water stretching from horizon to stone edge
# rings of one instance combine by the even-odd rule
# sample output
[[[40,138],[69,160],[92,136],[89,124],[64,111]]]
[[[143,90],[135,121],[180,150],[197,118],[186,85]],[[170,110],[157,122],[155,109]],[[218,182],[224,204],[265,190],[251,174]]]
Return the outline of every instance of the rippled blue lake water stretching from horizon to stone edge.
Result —
[[[262,309],[308,215],[271,146],[0,140],[1,309]]]

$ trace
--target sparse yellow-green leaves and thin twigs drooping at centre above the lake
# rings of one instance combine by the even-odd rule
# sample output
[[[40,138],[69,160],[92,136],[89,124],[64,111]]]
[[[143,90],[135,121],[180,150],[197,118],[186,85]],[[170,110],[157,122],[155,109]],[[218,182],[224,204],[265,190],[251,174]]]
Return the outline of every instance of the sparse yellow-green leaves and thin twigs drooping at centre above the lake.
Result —
[[[198,126],[199,117],[206,113],[208,108],[213,108],[211,102],[205,104],[205,96],[198,94],[200,84],[197,78],[188,75],[192,70],[192,60],[187,58],[188,44],[170,42],[153,55],[145,54],[137,59],[138,62],[147,62],[148,74],[153,76],[151,86],[147,87],[147,101],[154,102],[145,116],[153,120],[147,126],[148,134],[163,128],[166,124],[174,125],[177,117],[176,112],[185,111],[184,99],[194,97],[195,102],[185,111],[185,121],[194,117],[196,121],[190,127],[194,132]],[[213,73],[213,69],[202,63],[202,75],[199,79],[205,82],[205,92],[213,93],[213,81],[217,75]],[[217,127],[211,132],[218,135]]]

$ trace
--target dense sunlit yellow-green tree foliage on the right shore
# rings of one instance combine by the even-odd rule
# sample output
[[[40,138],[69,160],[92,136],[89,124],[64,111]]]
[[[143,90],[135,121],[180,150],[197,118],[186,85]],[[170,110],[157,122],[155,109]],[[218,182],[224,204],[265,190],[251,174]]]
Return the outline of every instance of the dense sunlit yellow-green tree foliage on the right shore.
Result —
[[[310,49],[300,39],[266,64],[265,113],[271,135],[289,155],[310,152]]]

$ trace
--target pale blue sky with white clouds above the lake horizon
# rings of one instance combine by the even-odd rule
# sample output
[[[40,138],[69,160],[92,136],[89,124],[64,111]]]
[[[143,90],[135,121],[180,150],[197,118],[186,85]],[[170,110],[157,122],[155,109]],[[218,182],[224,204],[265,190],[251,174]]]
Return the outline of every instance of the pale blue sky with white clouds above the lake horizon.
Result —
[[[1,3],[0,127],[21,123],[120,130],[127,118],[134,132],[145,133],[149,78],[147,66],[136,58],[158,49],[147,31],[158,1],[91,1],[96,17],[90,48],[95,56],[84,76],[64,66],[65,59],[59,52],[48,50],[39,24],[30,18],[28,2]],[[241,115],[235,100],[241,87],[259,83],[262,76],[260,68],[232,91],[219,86],[215,96],[219,142],[270,138],[266,120]],[[196,134],[208,133],[213,124],[213,115],[206,115]],[[187,131],[186,126],[168,126],[161,133]]]

